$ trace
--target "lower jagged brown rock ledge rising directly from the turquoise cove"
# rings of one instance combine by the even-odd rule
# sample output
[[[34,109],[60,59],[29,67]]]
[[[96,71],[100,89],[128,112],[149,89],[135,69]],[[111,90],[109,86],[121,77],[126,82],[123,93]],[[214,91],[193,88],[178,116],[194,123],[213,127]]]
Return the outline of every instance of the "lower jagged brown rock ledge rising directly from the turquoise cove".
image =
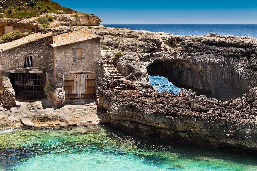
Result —
[[[144,97],[138,90],[101,91],[99,104],[107,110],[101,120],[154,139],[257,150],[256,87],[242,98],[228,102],[182,92]]]

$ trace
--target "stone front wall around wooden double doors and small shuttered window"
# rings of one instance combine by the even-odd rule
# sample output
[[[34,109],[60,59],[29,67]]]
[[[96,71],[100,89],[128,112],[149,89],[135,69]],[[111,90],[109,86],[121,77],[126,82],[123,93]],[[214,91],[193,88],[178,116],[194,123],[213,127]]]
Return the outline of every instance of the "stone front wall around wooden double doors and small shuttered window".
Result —
[[[83,59],[76,59],[75,48],[82,48]],[[54,85],[63,86],[63,75],[71,71],[91,71],[98,77],[97,64],[101,59],[100,38],[54,48]]]

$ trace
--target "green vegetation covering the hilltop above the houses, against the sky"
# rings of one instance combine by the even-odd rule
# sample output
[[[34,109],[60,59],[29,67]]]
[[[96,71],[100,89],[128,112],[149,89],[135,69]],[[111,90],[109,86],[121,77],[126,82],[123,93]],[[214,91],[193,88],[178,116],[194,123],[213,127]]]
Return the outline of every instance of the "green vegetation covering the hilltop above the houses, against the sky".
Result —
[[[76,11],[51,0],[0,0],[0,12],[4,17],[30,18],[43,13],[69,14]]]

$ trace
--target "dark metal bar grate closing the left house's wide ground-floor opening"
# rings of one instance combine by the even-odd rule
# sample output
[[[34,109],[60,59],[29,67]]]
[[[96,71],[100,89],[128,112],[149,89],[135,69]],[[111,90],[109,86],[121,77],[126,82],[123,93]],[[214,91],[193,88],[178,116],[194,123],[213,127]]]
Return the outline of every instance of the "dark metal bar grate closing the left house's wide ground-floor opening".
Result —
[[[40,74],[10,74],[15,95],[18,98],[44,97],[45,73]]]

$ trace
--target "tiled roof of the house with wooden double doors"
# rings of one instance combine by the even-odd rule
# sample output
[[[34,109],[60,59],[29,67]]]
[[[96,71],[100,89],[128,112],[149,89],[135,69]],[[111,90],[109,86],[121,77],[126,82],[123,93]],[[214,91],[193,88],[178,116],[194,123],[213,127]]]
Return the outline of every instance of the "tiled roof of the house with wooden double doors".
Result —
[[[89,39],[97,38],[100,36],[97,36],[94,33],[89,32],[87,29],[77,30],[69,33],[60,34],[58,36],[53,37],[53,44],[51,44],[52,47],[58,47],[63,45],[68,45],[71,43],[77,43],[86,41]]]

